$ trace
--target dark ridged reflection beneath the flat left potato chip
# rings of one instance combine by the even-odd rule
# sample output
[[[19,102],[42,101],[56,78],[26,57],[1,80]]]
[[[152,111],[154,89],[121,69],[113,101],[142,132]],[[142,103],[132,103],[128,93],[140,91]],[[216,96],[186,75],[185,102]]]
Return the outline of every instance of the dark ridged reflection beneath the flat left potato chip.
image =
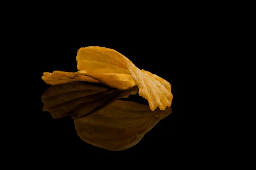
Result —
[[[71,115],[73,119],[79,119],[137,92],[136,86],[126,91],[108,90],[105,87],[76,81],[49,87],[41,100],[44,103],[43,111],[49,111],[53,118]]]

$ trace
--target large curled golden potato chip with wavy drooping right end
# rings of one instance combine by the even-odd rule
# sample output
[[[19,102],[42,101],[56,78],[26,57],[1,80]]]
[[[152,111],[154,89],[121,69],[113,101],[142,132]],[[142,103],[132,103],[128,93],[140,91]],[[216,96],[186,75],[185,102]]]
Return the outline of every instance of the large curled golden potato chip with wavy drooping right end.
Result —
[[[134,84],[139,88],[139,95],[148,100],[152,111],[157,107],[159,107],[160,110],[165,110],[166,107],[170,107],[172,104],[173,96],[169,82],[148,71],[140,70],[131,60],[113,49],[98,46],[80,48],[76,60],[78,61],[78,70],[83,69],[79,71],[80,73],[98,79],[104,84],[120,90],[128,89],[132,87],[130,85],[133,85],[129,77],[126,77],[126,80],[129,80],[126,84],[124,82],[118,81],[118,83],[114,81],[120,77],[121,79],[124,78],[122,77],[124,74],[121,74],[120,71],[127,70],[135,82]],[[100,62],[101,65],[99,68],[102,68],[104,63],[106,69],[117,67],[118,69],[115,71],[118,76],[111,79],[113,74],[106,74],[103,70],[102,73],[98,72],[95,74],[93,70],[86,69],[87,61]],[[95,64],[94,70],[96,69],[97,65]]]

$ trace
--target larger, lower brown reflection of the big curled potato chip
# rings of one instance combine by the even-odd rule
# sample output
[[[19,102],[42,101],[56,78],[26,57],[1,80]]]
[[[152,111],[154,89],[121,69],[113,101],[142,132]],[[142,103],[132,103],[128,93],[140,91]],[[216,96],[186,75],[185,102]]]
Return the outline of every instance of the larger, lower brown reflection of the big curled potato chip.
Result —
[[[128,149],[143,138],[172,108],[154,112],[148,105],[117,100],[84,118],[75,120],[78,136],[87,143],[108,150]]]

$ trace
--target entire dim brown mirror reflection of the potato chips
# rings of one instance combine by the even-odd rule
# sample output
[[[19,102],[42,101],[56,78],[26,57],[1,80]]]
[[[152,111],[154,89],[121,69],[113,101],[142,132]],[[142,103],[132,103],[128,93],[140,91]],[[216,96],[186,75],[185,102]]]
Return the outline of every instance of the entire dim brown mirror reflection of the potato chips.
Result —
[[[54,118],[71,115],[78,136],[108,150],[124,150],[137,144],[172,108],[151,111],[148,105],[119,100],[137,94],[137,87],[120,91],[83,82],[53,85],[42,96],[44,111]]]

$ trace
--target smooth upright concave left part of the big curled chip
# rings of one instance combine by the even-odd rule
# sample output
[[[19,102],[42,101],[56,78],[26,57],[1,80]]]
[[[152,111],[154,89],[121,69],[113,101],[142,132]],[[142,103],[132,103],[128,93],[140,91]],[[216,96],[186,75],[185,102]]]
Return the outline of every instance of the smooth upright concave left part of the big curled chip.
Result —
[[[103,50],[108,49],[104,48]],[[101,47],[80,48],[77,53],[77,69],[79,73],[90,76],[112,88],[126,90],[134,87],[126,65],[116,58],[113,51],[102,51]]]

